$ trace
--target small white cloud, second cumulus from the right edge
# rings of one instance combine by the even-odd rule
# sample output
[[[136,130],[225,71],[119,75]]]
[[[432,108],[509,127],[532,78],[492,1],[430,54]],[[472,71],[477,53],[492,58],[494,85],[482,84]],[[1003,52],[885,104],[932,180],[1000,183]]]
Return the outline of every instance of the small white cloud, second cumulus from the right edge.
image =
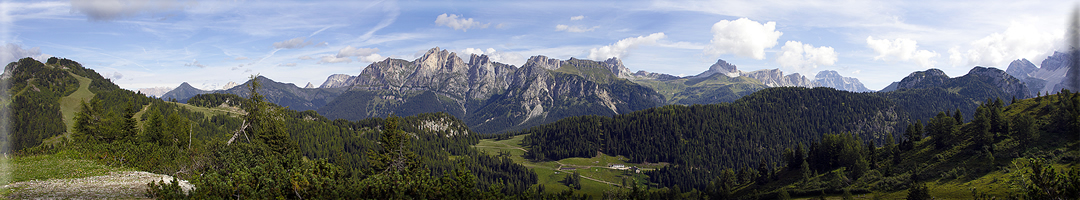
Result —
[[[877,56],[874,56],[875,61],[915,62],[916,65],[923,68],[934,67],[934,64],[937,63],[934,58],[941,56],[933,51],[919,50],[918,42],[907,38],[876,40],[870,36],[866,37],[866,46],[878,53]]]

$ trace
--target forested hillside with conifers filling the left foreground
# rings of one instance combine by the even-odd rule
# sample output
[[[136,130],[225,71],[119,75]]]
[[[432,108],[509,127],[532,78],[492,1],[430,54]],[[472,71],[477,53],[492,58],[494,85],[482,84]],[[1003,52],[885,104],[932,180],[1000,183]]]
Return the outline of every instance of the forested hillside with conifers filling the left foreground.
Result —
[[[472,148],[478,135],[447,114],[332,121],[311,110],[293,111],[266,103],[254,92],[258,85],[249,86],[248,94],[256,94],[253,97],[199,95],[192,103],[202,107],[195,107],[121,90],[93,70],[73,68],[80,66],[78,63],[59,61],[69,63],[62,66],[26,58],[9,67],[9,71],[16,72],[5,75],[29,80],[21,81],[28,84],[13,91],[50,89],[45,93],[56,94],[53,96],[73,91],[78,81],[72,81],[72,76],[80,75],[94,82],[90,85],[93,97],[76,105],[70,141],[59,137],[55,144],[40,145],[43,136],[33,134],[41,132],[12,134],[16,138],[38,138],[38,144],[21,143],[24,148],[14,149],[19,155],[63,152],[171,174],[192,181],[199,189],[190,197],[203,198],[475,198],[522,194],[536,183],[530,170]],[[67,79],[71,80],[65,82]],[[57,107],[31,110],[56,112],[48,118],[55,121],[35,121],[55,125],[52,136],[65,132]],[[388,144],[388,137],[400,141],[399,146]],[[397,163],[408,166],[384,172],[391,166],[405,166]],[[175,185],[162,184],[156,197],[177,197]],[[438,192],[430,192],[435,190]]]

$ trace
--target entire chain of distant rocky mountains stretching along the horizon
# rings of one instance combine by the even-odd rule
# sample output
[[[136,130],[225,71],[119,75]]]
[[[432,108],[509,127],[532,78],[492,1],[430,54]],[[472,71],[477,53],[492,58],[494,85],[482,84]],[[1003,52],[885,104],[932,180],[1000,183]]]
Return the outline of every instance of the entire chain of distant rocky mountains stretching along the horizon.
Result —
[[[1047,61],[1053,63],[1056,59]],[[1043,69],[1016,70],[1043,77],[1058,75],[1040,74],[1039,70]],[[956,94],[957,99],[969,99],[949,109],[959,105],[976,105],[987,96],[1023,98],[1032,93],[1026,84],[1031,81],[1022,81],[994,68],[976,67],[969,75],[954,79],[936,69],[916,71],[881,92],[942,86],[967,89],[946,91]],[[842,77],[832,70],[820,71],[813,79],[808,79],[799,74],[785,75],[780,69],[742,71],[735,65],[718,59],[708,70],[697,76],[676,77],[648,71],[631,72],[618,58],[561,61],[537,55],[517,67],[491,62],[487,55],[473,54],[467,62],[456,53],[438,48],[429,50],[415,61],[387,58],[373,63],[356,76],[330,75],[319,88],[311,83],[303,88],[280,83],[268,77],[257,80],[265,85],[265,95],[270,102],[295,110],[316,110],[330,119],[360,120],[391,114],[409,116],[443,111],[463,119],[481,133],[517,130],[572,116],[611,116],[670,104],[733,102],[775,86],[825,86],[873,92],[859,79]],[[249,83],[242,85],[246,84]],[[184,102],[205,93],[245,95],[242,88],[203,91],[184,83],[161,97]]]

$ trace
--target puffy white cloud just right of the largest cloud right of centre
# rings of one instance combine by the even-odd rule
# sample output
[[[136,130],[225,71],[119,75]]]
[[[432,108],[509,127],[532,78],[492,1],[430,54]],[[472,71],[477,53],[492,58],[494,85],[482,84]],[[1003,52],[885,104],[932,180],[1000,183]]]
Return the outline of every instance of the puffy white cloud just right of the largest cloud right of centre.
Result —
[[[777,53],[777,63],[782,67],[791,67],[798,72],[809,75],[819,65],[829,66],[836,63],[836,51],[831,46],[814,48],[798,41],[787,41]]]

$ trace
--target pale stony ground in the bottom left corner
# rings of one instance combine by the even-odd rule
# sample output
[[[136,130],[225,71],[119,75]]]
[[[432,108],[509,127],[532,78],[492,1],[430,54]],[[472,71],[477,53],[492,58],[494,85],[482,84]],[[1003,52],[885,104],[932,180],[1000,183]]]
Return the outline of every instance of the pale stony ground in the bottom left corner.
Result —
[[[173,177],[149,172],[112,172],[109,175],[18,182],[3,186],[10,188],[10,199],[143,199],[147,196],[150,182],[172,182]],[[185,191],[192,189],[187,181],[180,181]]]

